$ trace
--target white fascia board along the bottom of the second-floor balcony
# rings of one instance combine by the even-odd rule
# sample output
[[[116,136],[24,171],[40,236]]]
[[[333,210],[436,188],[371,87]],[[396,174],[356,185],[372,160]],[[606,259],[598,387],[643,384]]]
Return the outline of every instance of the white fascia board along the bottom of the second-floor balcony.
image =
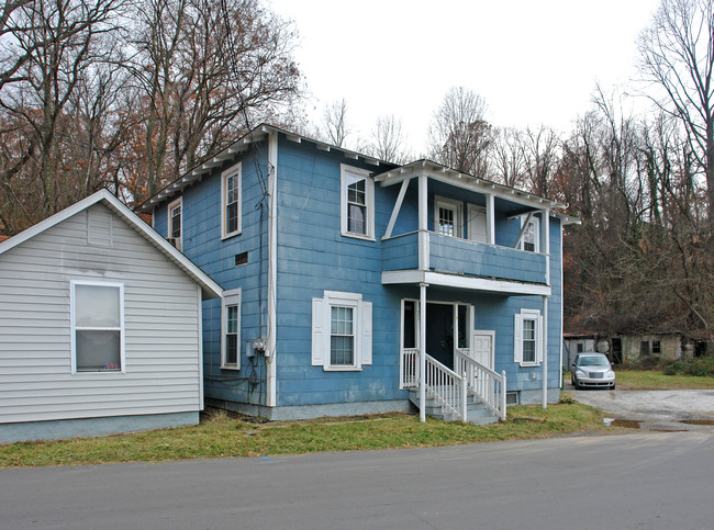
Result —
[[[434,271],[383,271],[382,284],[427,283],[444,287],[466,289],[469,291],[487,291],[515,295],[550,296],[550,285],[535,283],[509,282],[506,280],[490,280],[488,278],[471,278],[458,274],[445,274]]]

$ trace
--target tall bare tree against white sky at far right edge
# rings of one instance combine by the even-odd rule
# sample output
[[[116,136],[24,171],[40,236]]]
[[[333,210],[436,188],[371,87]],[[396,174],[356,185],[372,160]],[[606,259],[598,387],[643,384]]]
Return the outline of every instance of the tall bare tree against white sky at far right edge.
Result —
[[[714,7],[711,0],[662,0],[639,40],[640,71],[660,90],[649,94],[685,127],[706,176],[714,219]]]

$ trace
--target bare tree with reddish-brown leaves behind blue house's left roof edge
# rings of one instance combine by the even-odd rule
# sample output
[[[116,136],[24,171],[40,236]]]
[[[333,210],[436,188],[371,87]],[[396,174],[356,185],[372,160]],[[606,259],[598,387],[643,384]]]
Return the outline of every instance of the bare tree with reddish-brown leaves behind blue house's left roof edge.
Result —
[[[153,194],[299,94],[290,22],[259,0],[147,0],[133,74],[147,101]],[[140,198],[137,198],[140,199]]]

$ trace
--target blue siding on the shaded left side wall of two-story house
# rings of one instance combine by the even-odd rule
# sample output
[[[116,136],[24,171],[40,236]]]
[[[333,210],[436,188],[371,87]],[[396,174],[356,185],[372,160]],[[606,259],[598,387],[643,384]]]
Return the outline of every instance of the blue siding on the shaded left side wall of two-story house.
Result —
[[[182,251],[223,289],[242,289],[241,370],[221,369],[221,301],[203,303],[203,374],[207,398],[239,403],[265,403],[265,362],[245,356],[245,342],[265,336],[267,322],[268,219],[256,205],[267,182],[267,144],[257,144],[242,157],[242,233],[221,240],[221,172],[223,167],[185,190],[182,201]],[[166,203],[155,211],[156,229],[166,234]],[[263,232],[260,232],[263,229]],[[263,237],[261,237],[263,236]],[[260,266],[263,245],[263,267]],[[248,252],[248,263],[235,266],[235,255]],[[260,330],[263,301],[264,330]]]

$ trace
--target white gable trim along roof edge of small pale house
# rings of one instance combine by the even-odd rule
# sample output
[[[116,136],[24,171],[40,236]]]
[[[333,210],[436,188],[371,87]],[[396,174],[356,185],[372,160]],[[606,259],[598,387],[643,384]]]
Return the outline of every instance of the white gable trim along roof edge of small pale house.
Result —
[[[72,204],[69,207],[66,207],[62,212],[56,213],[55,215],[47,217],[46,219],[37,223],[34,226],[31,226],[24,232],[21,232],[14,237],[7,239],[0,243],[0,256],[3,252],[16,247],[18,245],[23,244],[27,239],[35,237],[38,234],[52,228],[53,226],[58,225],[63,221],[68,219],[69,217],[77,215],[79,212],[87,210],[97,203],[103,203],[109,210],[119,215],[126,224],[129,224],[136,233],[138,233],[144,239],[150,243],[155,248],[157,248],[164,256],[166,256],[170,261],[176,263],[179,269],[181,269],[189,278],[191,278],[196,283],[201,285],[203,290],[203,296],[205,298],[220,298],[223,293],[221,285],[211,280],[205,272],[199,269],[190,259],[183,256],[172,245],[170,245],[164,237],[161,237],[154,228],[148,226],[144,221],[142,221],[138,215],[132,212],[129,206],[123,202],[116,199],[107,190],[99,190],[98,192],[89,195],[86,199]]]

